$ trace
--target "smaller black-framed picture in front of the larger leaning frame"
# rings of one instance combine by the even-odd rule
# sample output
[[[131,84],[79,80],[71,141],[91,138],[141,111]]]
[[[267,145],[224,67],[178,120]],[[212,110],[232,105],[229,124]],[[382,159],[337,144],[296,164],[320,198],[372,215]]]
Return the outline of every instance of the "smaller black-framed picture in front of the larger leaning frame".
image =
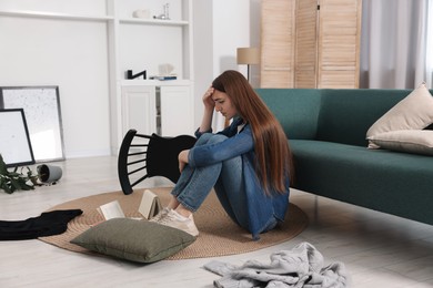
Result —
[[[34,164],[22,109],[0,110],[0,154],[7,167]]]

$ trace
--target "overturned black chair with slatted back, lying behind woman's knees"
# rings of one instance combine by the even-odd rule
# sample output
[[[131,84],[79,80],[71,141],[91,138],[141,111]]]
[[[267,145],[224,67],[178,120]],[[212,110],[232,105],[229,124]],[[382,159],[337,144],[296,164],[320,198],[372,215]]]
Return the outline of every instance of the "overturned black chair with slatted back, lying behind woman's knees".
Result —
[[[123,193],[131,194],[137,184],[153,176],[163,176],[177,183],[180,176],[178,155],[194,144],[195,137],[190,135],[163,137],[157,134],[138,134],[135,130],[128,131],[118,158],[118,174]]]

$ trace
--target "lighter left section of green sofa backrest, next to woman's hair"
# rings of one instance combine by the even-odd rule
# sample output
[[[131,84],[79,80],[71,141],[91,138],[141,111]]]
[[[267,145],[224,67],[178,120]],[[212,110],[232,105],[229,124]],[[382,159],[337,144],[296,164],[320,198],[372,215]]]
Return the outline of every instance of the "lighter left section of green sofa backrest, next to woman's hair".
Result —
[[[288,138],[315,138],[321,105],[320,90],[258,89],[256,92],[280,121]]]

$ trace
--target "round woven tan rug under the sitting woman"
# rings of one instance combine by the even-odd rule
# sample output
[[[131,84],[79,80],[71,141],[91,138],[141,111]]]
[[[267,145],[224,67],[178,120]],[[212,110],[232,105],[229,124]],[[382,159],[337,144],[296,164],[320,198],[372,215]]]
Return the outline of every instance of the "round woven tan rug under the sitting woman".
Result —
[[[159,196],[161,204],[167,206],[170,200],[171,188],[158,187],[150,189]],[[70,240],[92,225],[103,220],[98,207],[118,200],[125,217],[142,217],[138,209],[143,192],[144,189],[140,189],[130,195],[124,195],[122,192],[103,193],[57,205],[50,210],[82,209],[83,214],[69,222],[66,233],[40,237],[39,239],[63,249],[89,254],[89,250],[71,244]],[[249,232],[230,219],[214,192],[207,197],[200,209],[194,213],[194,222],[200,232],[197,240],[168,259],[218,257],[262,249],[295,237],[309,223],[306,215],[298,206],[290,204],[284,223],[268,233],[261,234],[260,240],[254,241]]]

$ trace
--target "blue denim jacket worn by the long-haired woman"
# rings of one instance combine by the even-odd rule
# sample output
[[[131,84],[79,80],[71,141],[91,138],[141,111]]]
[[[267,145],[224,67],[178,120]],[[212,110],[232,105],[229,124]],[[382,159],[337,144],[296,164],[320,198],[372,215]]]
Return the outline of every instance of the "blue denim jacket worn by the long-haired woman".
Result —
[[[289,178],[286,179],[286,191],[279,194],[274,191],[266,195],[262,187],[255,169],[254,141],[251,126],[246,124],[240,133],[238,126],[242,119],[235,119],[232,124],[219,132],[228,136],[223,142],[194,146],[189,153],[189,165],[192,167],[208,166],[218,162],[241,156],[243,165],[243,181],[246,193],[246,205],[249,213],[250,233],[254,240],[259,239],[269,225],[269,219],[273,216],[279,222],[284,220],[284,215],[289,206]],[[203,133],[195,132],[200,137]]]

